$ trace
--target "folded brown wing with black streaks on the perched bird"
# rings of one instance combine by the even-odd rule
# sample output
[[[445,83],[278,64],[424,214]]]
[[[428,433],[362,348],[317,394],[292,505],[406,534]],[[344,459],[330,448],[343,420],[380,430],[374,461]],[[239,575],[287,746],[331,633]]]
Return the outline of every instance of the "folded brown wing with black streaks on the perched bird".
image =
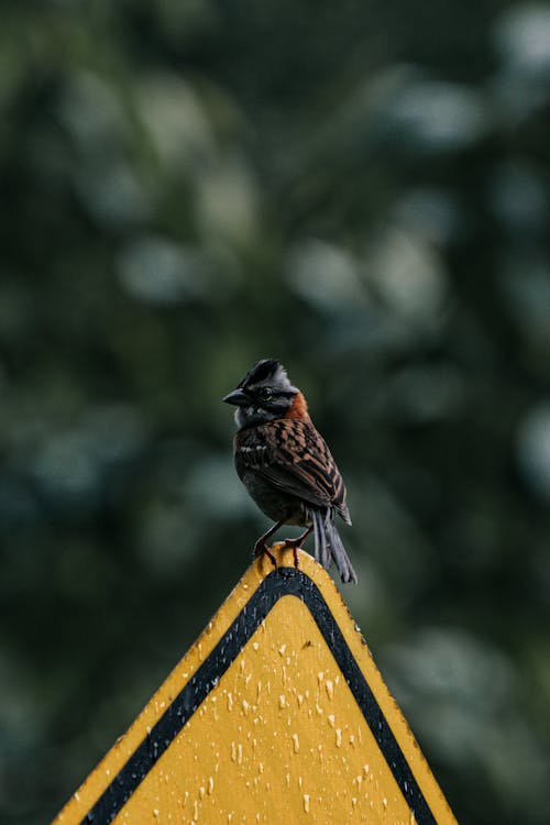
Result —
[[[238,463],[285,493],[345,512],[345,487],[329,448],[310,421],[277,420],[238,439]]]

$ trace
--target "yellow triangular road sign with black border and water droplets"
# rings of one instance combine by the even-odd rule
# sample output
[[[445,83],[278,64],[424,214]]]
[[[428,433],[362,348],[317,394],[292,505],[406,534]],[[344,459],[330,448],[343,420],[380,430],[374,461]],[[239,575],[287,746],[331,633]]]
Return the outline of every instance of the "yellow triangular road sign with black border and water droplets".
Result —
[[[330,576],[272,551],[54,825],[455,825]]]

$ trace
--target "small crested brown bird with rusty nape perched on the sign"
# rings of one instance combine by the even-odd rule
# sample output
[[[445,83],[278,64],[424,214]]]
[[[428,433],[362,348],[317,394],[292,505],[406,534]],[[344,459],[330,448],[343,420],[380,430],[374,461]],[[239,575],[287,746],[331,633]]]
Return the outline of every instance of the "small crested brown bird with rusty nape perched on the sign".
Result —
[[[342,582],[358,576],[334,526],[334,514],[351,525],[342,476],[317,432],[300,391],[278,361],[263,359],[223,400],[237,406],[234,460],[239,477],[261,510],[275,525],[260,537],[254,556],[267,553],[267,539],[283,525],[307,530],[285,539],[297,548],[314,532],[315,558],[329,569],[334,561]]]

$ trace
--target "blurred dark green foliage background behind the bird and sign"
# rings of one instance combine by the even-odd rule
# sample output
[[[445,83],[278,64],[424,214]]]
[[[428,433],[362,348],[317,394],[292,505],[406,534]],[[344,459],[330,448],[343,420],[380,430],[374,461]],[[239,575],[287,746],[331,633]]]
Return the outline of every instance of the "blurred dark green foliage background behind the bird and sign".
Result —
[[[266,520],[258,358],[459,821],[550,821],[550,6],[0,6],[0,820],[48,821]]]

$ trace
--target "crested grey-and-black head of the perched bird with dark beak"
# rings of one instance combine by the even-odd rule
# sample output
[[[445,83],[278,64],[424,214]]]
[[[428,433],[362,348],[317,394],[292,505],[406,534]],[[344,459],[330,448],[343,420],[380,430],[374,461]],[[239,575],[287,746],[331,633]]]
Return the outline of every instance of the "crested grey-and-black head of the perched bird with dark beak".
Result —
[[[258,361],[223,400],[237,406],[235,422],[239,429],[276,418],[297,417],[298,410],[300,415],[307,415],[300,391],[290,384],[285,367],[273,359]]]

